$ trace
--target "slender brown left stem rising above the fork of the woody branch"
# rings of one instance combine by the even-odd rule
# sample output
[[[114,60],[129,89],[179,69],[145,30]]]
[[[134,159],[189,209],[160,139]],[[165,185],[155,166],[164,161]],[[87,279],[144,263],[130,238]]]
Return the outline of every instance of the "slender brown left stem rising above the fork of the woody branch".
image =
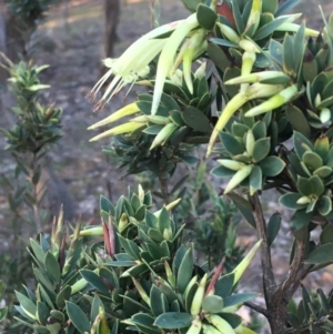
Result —
[[[268,242],[266,222],[262,212],[262,206],[259,200],[258,193],[250,198],[254,208],[255,225],[259,237],[262,239],[260,246],[261,250],[261,264],[263,270],[263,282],[265,295],[271,298],[272,294],[276,289],[275,277],[272,270],[271,250]]]

